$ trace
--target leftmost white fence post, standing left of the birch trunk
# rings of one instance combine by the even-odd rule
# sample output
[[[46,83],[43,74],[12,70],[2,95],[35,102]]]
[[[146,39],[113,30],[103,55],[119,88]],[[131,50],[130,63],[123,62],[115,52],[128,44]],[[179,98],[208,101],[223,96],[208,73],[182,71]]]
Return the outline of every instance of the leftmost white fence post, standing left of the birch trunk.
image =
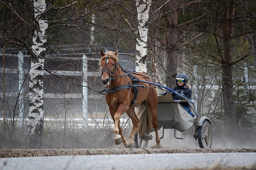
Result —
[[[23,127],[23,118],[24,118],[24,90],[23,90],[23,54],[21,52],[18,53],[18,61],[19,61],[19,117],[20,117],[20,129]]]

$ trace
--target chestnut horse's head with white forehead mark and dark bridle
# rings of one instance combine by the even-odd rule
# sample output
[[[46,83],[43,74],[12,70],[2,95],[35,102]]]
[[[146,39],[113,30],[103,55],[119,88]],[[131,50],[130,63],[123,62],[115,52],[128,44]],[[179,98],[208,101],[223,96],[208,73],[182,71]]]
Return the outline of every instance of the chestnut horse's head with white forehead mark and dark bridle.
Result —
[[[117,71],[118,50],[116,50],[116,52],[108,51],[106,53],[101,50],[100,55],[101,80],[104,85],[109,85]]]

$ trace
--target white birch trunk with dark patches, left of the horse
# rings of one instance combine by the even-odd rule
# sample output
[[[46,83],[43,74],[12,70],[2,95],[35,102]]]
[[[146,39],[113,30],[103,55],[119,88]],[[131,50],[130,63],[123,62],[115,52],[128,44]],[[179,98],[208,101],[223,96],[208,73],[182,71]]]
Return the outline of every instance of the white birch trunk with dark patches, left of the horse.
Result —
[[[44,119],[44,56],[45,56],[45,31],[48,27],[46,19],[45,0],[34,0],[35,34],[31,47],[31,65],[29,72],[29,147],[41,147]]]

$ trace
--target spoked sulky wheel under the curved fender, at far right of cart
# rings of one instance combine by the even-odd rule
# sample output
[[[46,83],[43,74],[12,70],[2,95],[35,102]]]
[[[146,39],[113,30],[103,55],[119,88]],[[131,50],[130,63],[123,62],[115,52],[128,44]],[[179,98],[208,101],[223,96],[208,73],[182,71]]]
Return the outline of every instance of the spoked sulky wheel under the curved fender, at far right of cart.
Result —
[[[198,128],[198,143],[200,148],[211,148],[212,146],[212,129],[207,120]]]

